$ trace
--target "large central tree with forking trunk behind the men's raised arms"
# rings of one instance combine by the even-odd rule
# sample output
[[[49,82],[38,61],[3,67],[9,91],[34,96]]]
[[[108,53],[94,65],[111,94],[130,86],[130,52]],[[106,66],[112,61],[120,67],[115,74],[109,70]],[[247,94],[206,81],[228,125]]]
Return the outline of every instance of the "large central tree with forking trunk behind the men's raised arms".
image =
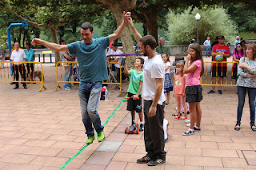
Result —
[[[137,0],[97,0],[98,2],[102,3],[104,6],[107,7],[113,14],[114,18],[117,22],[117,26],[120,26],[122,23],[122,12],[123,11],[130,11],[133,10],[136,6]],[[132,42],[131,34],[129,27],[126,26],[122,36],[122,47],[124,53],[134,53],[134,44]],[[134,65],[135,56],[127,57],[127,66],[128,68],[132,68]]]

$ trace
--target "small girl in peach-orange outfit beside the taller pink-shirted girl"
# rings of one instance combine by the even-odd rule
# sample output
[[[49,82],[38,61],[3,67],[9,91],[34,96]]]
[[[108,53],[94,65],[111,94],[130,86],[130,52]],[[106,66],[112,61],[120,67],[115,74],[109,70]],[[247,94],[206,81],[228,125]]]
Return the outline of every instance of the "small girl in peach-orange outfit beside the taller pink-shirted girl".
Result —
[[[181,110],[181,103],[184,108],[184,117],[181,118],[181,121],[187,120],[187,108],[186,108],[186,101],[185,101],[185,87],[186,87],[186,77],[183,73],[184,63],[178,62],[176,63],[176,71],[174,75],[174,94],[173,96],[176,99],[177,103],[177,115],[174,120],[180,119],[180,110]]]

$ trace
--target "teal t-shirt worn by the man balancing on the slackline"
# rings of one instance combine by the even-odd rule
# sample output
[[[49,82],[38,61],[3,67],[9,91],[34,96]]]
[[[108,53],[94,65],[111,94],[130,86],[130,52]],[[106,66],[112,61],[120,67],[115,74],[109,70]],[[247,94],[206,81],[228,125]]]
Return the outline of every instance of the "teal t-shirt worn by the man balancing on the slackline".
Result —
[[[86,44],[83,40],[67,45],[71,54],[78,58],[80,81],[104,81],[108,78],[106,70],[106,47],[109,37],[96,38]]]

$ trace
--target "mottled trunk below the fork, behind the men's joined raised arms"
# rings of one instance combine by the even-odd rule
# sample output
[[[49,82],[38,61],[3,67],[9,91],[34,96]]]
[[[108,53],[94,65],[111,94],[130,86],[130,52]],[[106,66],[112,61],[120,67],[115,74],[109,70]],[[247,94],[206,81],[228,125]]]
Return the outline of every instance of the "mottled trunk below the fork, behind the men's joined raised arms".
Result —
[[[114,17],[116,19],[117,27],[120,26],[123,20],[122,11],[117,9],[113,9],[111,11],[113,12]],[[121,36],[121,41],[122,41],[122,47],[123,47],[124,53],[134,53],[134,43],[131,38],[129,26],[126,26],[125,30],[123,31]],[[127,63],[128,69],[134,68],[134,62],[135,62],[135,56],[126,57],[126,63]]]

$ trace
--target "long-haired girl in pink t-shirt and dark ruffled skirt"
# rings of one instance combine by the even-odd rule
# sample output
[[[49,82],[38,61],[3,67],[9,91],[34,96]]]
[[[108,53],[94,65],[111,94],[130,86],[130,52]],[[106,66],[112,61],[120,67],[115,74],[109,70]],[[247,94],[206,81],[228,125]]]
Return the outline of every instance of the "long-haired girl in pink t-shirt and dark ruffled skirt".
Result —
[[[190,62],[190,66],[189,66]],[[190,46],[190,52],[186,57],[184,66],[184,73],[186,73],[186,102],[190,105],[190,128],[183,133],[186,135],[193,135],[194,131],[201,131],[201,117],[202,110],[200,108],[200,101],[202,101],[202,86],[199,77],[204,72],[202,61],[202,50],[197,43]],[[196,123],[196,125],[194,125]]]

